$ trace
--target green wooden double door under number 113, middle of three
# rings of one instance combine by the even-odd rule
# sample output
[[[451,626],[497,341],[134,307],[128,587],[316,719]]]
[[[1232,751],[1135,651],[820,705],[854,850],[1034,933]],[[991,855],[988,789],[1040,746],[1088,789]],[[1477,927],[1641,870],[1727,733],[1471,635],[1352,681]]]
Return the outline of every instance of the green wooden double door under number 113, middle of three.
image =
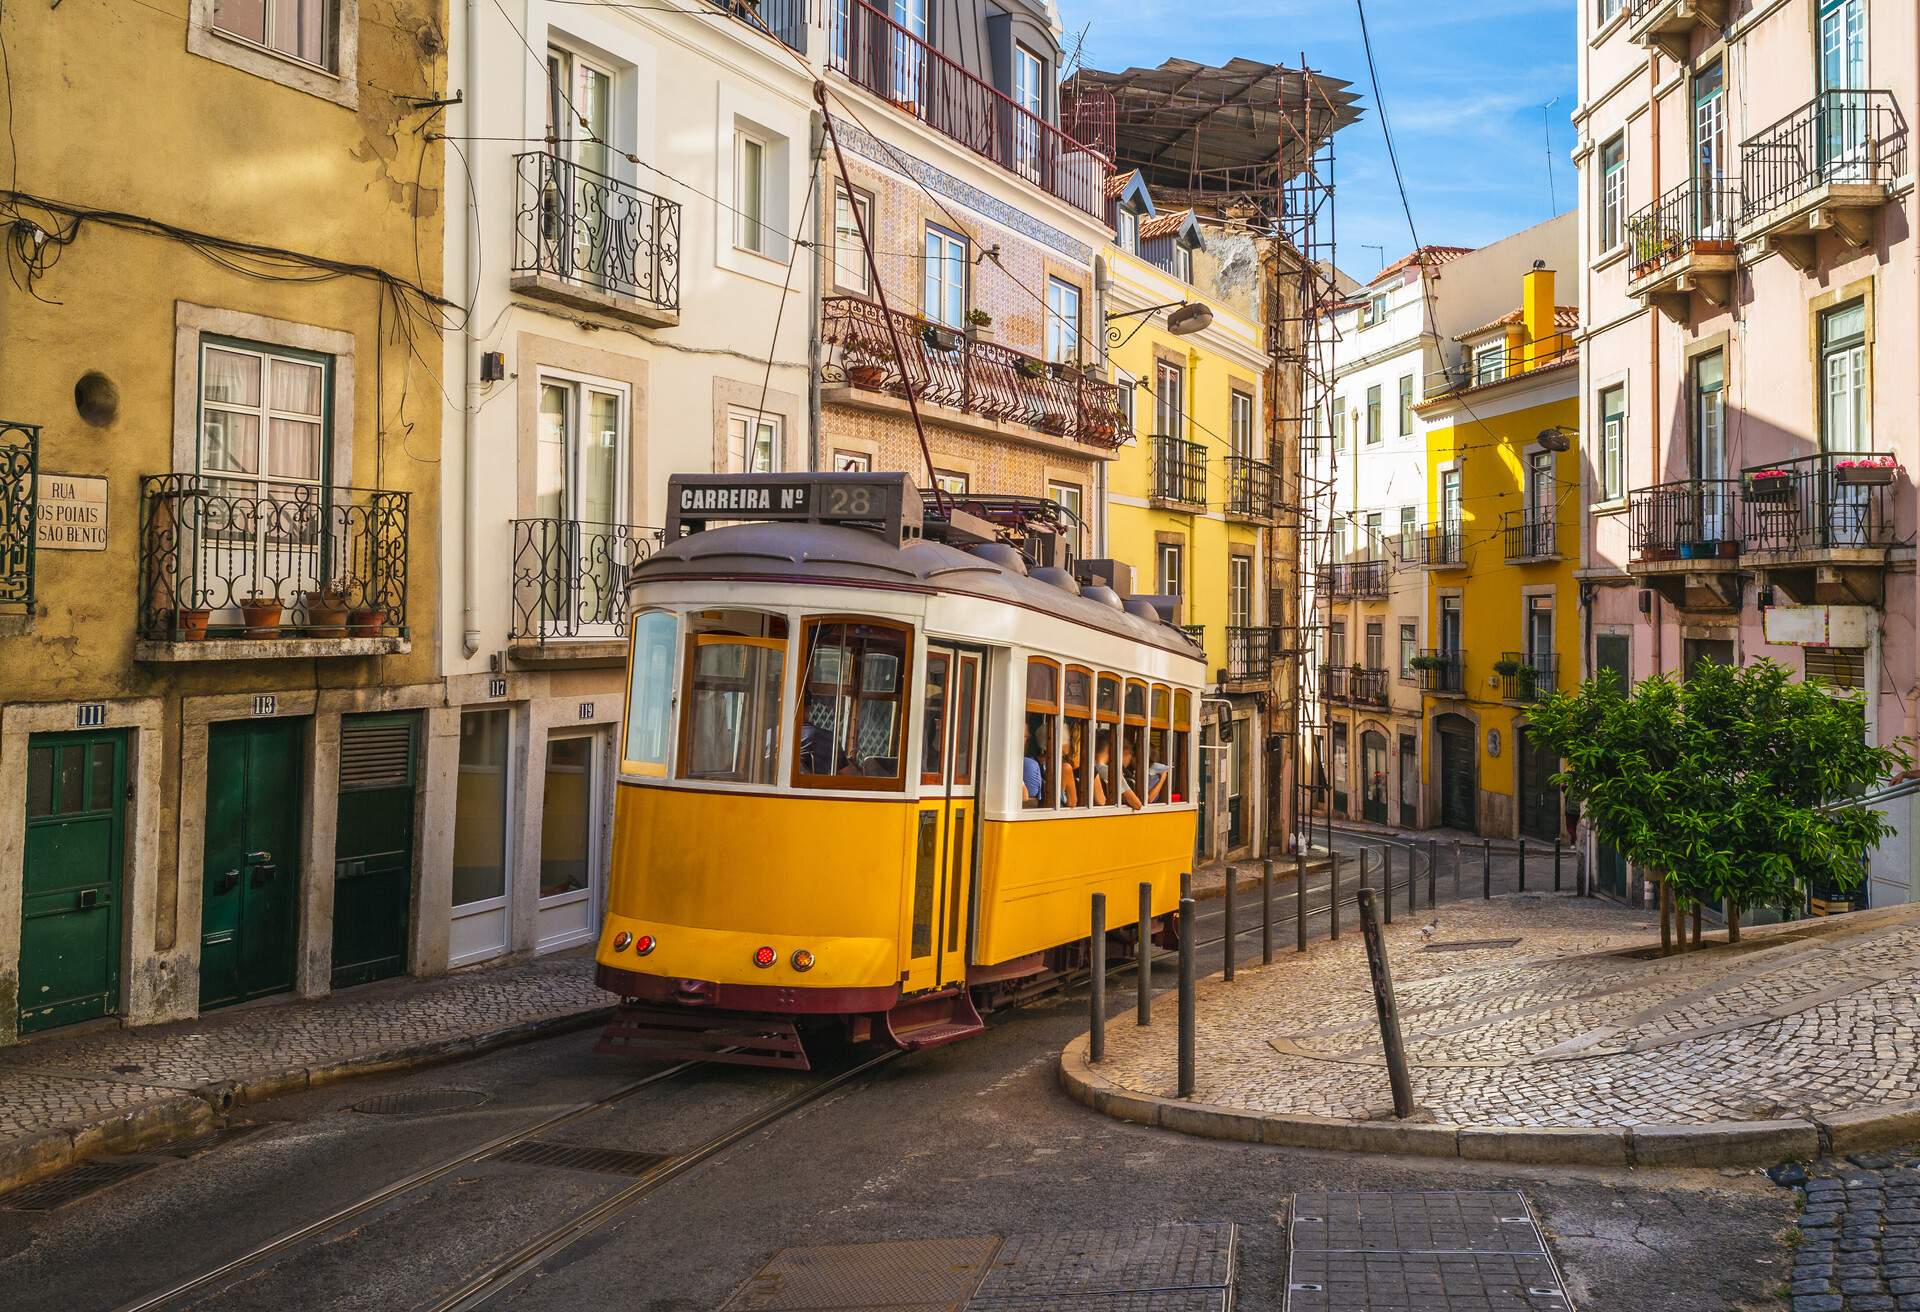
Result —
[[[294,987],[303,720],[207,728],[200,1008]]]

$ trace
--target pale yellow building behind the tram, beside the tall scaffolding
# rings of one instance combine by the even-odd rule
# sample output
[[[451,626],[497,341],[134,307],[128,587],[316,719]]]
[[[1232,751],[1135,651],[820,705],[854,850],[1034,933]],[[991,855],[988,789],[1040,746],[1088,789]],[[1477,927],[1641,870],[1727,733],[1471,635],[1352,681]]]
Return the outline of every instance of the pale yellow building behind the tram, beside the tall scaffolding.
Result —
[[[1269,361],[1256,298],[1221,275],[1227,250],[1250,238],[1192,211],[1154,213],[1131,175],[1116,179],[1116,192],[1110,363],[1139,438],[1106,471],[1108,553],[1133,567],[1137,594],[1167,599],[1206,647],[1213,695],[1202,713],[1202,855],[1258,855],[1277,482],[1261,459]]]

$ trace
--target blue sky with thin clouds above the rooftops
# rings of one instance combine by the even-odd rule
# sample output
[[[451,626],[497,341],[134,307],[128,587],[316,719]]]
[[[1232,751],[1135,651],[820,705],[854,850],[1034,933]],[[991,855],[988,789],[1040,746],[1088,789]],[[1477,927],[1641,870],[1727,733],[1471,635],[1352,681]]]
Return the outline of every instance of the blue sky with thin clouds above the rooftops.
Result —
[[[1171,56],[1308,61],[1344,77],[1365,115],[1334,142],[1338,263],[1361,280],[1411,250],[1380,140],[1354,0],[1056,0],[1071,52],[1096,69]],[[1380,94],[1423,242],[1480,246],[1549,219],[1548,134],[1559,209],[1574,204],[1569,159],[1576,0],[1367,0]],[[1540,108],[1559,98],[1542,125]]]

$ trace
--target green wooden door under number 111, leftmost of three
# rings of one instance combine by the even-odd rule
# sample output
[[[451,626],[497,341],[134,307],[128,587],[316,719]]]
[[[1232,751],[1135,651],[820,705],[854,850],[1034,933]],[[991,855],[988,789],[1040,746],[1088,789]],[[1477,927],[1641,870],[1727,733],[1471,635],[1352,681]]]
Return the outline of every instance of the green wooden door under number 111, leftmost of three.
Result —
[[[119,1008],[125,807],[125,732],[29,740],[21,1033]]]

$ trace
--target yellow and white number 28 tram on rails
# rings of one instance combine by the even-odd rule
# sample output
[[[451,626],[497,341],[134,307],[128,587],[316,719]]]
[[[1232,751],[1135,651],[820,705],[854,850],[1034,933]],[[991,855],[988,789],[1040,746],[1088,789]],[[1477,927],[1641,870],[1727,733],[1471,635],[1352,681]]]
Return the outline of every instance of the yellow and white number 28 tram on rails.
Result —
[[[1092,893],[1167,926],[1206,665],[1148,601],[906,474],[682,474],[630,613],[603,1049],[931,1047],[1083,962]]]

